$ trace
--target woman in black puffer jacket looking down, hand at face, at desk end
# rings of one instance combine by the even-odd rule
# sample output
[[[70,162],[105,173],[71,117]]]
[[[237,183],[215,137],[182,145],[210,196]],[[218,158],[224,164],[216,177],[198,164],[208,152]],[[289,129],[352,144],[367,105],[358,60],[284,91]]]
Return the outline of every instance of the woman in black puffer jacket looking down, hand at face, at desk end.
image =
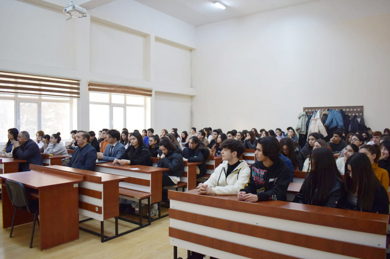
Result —
[[[163,172],[162,186],[176,185],[184,172],[181,149],[177,149],[169,138],[163,138],[160,141],[160,150],[162,154],[158,160],[157,167],[169,168],[169,171]]]

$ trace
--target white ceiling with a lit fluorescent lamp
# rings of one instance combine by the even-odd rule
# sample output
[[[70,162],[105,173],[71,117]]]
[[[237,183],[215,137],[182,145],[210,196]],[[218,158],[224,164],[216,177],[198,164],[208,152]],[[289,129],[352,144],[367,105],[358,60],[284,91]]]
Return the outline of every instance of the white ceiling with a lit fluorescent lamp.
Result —
[[[219,0],[227,6],[225,10],[217,8],[214,5],[215,0],[135,1],[183,22],[201,26],[318,0]]]

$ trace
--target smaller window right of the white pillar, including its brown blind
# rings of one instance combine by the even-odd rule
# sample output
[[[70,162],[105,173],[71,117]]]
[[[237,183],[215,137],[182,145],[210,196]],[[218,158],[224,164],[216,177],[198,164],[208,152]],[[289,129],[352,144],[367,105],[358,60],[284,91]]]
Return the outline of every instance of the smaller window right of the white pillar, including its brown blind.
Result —
[[[151,127],[152,90],[128,86],[89,83],[89,128],[127,128],[142,130]]]

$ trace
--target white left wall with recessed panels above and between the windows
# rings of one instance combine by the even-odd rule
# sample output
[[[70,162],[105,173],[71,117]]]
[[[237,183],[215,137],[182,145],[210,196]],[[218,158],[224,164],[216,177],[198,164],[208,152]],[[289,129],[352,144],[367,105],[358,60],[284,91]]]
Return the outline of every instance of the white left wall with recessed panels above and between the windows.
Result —
[[[188,101],[196,93],[190,70],[194,26],[132,0],[110,2],[89,10],[87,18],[70,21],[65,21],[58,0],[42,1],[51,2],[54,9],[39,1],[1,2],[0,70],[80,80],[78,125],[72,128],[89,129],[88,80],[173,93],[177,103],[185,103],[182,110],[190,118]],[[173,59],[161,60],[164,47],[155,42],[156,37],[180,46],[168,48]],[[177,73],[164,78],[164,69]],[[160,103],[152,104],[152,127],[154,120],[159,121],[154,110],[162,110]],[[190,128],[190,119],[181,123]],[[176,120],[166,116],[165,124],[171,127]]]

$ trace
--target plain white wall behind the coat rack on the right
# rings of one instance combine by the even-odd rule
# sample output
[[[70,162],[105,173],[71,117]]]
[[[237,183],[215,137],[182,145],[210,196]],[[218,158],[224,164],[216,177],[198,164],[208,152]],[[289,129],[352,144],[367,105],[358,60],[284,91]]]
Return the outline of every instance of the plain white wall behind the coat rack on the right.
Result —
[[[295,127],[303,107],[357,106],[390,125],[390,2],[320,0],[197,27],[193,124]]]

